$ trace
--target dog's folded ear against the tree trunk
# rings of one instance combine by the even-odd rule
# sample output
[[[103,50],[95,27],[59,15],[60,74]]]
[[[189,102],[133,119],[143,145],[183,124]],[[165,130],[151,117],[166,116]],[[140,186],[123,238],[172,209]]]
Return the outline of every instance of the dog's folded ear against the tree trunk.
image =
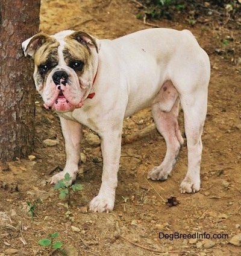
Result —
[[[27,57],[27,55],[29,55],[33,57],[36,50],[39,49],[39,47],[43,45],[43,43],[45,43],[48,38],[48,34],[40,32],[35,36],[32,36],[29,39],[25,40],[22,43],[22,50],[24,56]]]

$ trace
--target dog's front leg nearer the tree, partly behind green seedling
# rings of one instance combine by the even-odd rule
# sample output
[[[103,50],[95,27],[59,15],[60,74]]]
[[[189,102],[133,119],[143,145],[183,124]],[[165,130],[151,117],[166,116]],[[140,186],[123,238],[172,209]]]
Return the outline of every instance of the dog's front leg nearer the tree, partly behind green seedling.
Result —
[[[64,175],[69,173],[72,183],[78,173],[78,162],[80,161],[80,147],[82,139],[82,125],[75,121],[60,117],[62,133],[65,141],[66,164],[63,171],[52,176],[51,183],[57,183],[64,179]]]

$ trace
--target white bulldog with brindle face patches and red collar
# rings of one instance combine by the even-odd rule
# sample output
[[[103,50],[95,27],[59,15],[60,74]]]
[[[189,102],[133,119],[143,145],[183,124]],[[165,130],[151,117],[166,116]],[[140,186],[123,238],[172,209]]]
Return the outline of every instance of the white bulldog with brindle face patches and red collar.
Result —
[[[34,82],[44,106],[60,117],[66,165],[52,183],[66,173],[74,182],[82,126],[87,126],[101,138],[103,158],[102,183],[90,210],[112,211],[123,120],[148,106],[166,142],[163,162],[148,178],[166,180],[184,142],[178,127],[181,105],[188,161],[180,191],[199,191],[210,61],[189,30],[151,28],[114,40],[99,40],[83,31],[38,33],[25,40],[22,49],[34,59]]]

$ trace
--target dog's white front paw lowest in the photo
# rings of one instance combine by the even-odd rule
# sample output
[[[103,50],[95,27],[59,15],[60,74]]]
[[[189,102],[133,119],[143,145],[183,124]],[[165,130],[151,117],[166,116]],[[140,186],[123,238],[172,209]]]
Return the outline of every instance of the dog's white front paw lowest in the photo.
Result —
[[[98,195],[90,202],[90,210],[95,213],[110,213],[114,208],[114,199]]]

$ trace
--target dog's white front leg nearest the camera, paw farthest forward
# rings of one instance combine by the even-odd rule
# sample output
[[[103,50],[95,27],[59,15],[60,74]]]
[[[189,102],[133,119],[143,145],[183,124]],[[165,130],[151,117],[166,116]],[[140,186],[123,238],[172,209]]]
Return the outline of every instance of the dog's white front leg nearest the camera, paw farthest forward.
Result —
[[[90,202],[90,210],[102,213],[114,208],[117,187],[117,172],[121,157],[121,131],[105,131],[101,136],[103,157],[102,184],[99,194]]]

